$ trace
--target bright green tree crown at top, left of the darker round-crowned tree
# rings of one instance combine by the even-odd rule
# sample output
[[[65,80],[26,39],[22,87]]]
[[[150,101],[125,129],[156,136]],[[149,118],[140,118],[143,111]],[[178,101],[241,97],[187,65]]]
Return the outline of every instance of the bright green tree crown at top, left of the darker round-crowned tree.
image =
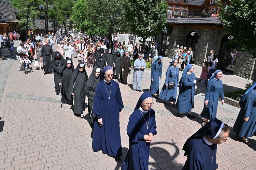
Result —
[[[89,35],[111,34],[122,27],[125,1],[77,0],[71,18],[77,29]]]

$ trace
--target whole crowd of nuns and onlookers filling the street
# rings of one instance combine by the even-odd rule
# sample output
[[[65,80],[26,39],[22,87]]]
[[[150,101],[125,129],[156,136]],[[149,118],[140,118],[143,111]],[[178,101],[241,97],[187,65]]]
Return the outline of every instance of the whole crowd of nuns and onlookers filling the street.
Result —
[[[114,79],[120,79],[119,82],[128,84],[127,78],[133,59],[132,89],[142,92],[141,83],[146,61],[152,62],[150,91],[142,93],[127,125],[129,150],[123,162],[123,169],[148,169],[150,142],[157,133],[155,111],[151,108],[153,106],[152,94],[157,94],[156,96],[161,99],[162,103],[173,102],[172,106],[180,112],[180,118],[186,118],[184,114],[190,118],[195,117],[191,109],[194,108],[197,79],[193,73],[194,66],[189,64],[193,57],[191,48],[187,51],[185,47],[181,46],[180,49],[177,47],[175,55],[178,53],[178,57],[174,56],[171,61],[166,71],[165,83],[160,90],[163,57],[157,55],[155,43],[146,44],[146,51],[141,52],[141,44],[137,46],[137,43],[135,46],[130,45],[131,42],[128,42],[127,46],[125,42],[123,45],[113,45],[112,50],[112,43],[100,36],[82,40],[64,37],[59,38],[57,51],[54,54],[52,49],[52,44],[55,43],[54,37],[54,35],[46,36],[45,39],[36,42],[28,39],[25,44],[20,43],[16,56],[19,61],[19,71],[22,70],[23,59],[29,58],[39,62],[38,69],[43,68],[44,74],[54,73],[55,92],[61,95],[61,107],[62,104],[71,105],[74,115],[80,118],[84,118],[83,112],[88,107],[89,118],[94,123],[93,151],[101,150],[102,153],[118,159],[123,158],[119,119],[124,104],[119,84]],[[37,38],[36,36],[35,39]],[[114,39],[114,44],[115,41],[117,40]],[[148,55],[147,48],[154,50]],[[138,51],[134,53],[134,50]],[[79,62],[76,68],[73,65],[73,58],[77,58]],[[179,80],[177,65],[180,59],[184,67],[180,69],[182,76]],[[209,65],[209,63],[212,64]],[[217,55],[211,50],[210,55],[205,58],[200,76],[201,86],[207,82],[204,108],[201,112],[204,118],[201,123],[203,127],[184,144],[183,150],[188,159],[183,169],[215,169],[217,167],[217,144],[225,142],[229,135],[228,126],[216,118],[219,97],[222,98],[221,103],[224,104],[222,71],[216,70],[217,63]],[[89,77],[86,66],[93,66]],[[179,95],[176,97],[178,87]],[[256,117],[253,115],[256,108],[255,90],[256,83],[242,97],[240,101],[242,108],[233,128],[247,145],[251,145],[247,138],[256,132],[256,129],[251,126],[256,122]],[[86,96],[88,106],[85,103]]]

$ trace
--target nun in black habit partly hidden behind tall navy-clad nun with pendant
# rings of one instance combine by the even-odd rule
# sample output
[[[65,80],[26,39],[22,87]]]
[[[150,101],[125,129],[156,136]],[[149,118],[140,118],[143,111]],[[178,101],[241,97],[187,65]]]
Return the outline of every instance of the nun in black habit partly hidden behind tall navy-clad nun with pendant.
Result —
[[[93,71],[91,72],[90,77],[88,78],[86,84],[85,84],[85,94],[88,97],[88,112],[89,112],[89,118],[94,123],[94,117],[93,117],[93,102],[96,92],[97,84],[100,82],[100,67],[95,66],[93,68]]]

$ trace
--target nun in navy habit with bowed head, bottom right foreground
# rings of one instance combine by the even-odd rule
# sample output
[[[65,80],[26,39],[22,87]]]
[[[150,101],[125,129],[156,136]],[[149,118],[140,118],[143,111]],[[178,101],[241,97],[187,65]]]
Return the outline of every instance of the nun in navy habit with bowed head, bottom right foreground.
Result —
[[[227,141],[229,127],[227,124],[213,118],[188,138],[183,149],[187,156],[183,170],[215,170],[217,144]]]

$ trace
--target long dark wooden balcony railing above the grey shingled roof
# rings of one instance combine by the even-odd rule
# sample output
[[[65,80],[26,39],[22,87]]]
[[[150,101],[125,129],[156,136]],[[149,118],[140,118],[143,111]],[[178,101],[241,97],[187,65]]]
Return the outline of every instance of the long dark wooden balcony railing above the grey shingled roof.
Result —
[[[208,18],[217,17],[217,9],[175,10],[166,13],[167,18]]]

